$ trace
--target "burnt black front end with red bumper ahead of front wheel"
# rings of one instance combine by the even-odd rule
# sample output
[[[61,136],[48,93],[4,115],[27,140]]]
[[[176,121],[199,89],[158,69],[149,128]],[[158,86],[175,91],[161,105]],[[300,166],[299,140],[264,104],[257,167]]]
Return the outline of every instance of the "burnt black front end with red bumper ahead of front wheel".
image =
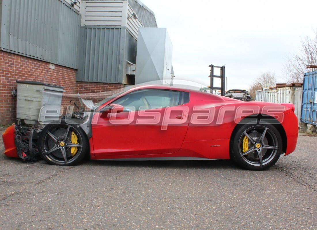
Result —
[[[25,161],[40,159],[37,139],[43,127],[44,125],[25,127],[15,124],[8,127],[2,134],[4,154]]]

